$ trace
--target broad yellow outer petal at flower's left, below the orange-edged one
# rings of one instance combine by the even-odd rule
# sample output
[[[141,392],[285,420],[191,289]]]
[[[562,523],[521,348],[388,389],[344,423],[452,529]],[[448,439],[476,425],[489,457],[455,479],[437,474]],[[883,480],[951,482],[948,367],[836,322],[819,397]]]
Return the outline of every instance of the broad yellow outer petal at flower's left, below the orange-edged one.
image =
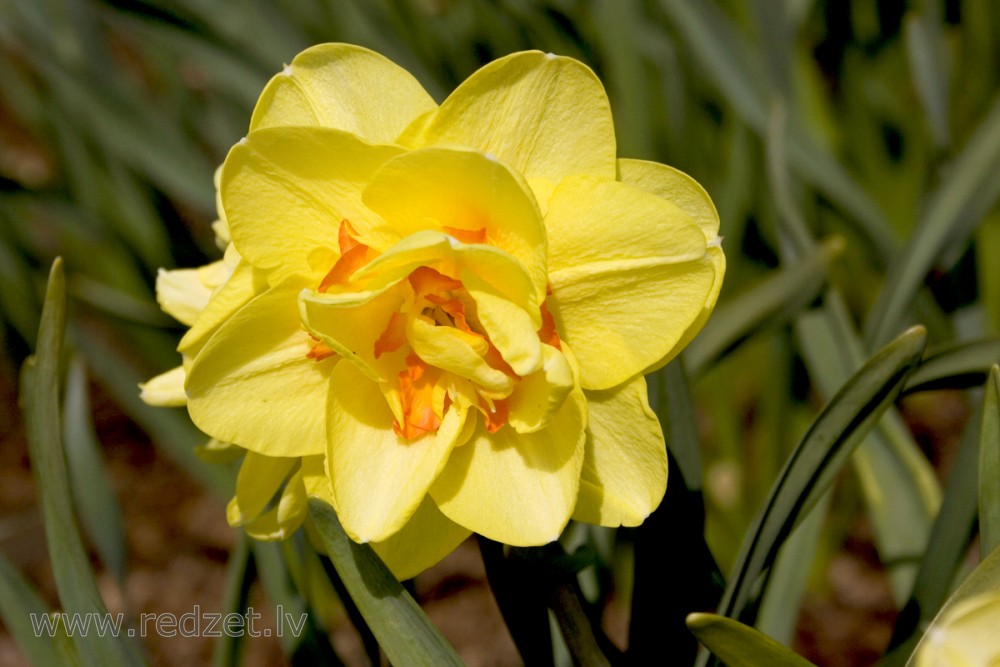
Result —
[[[300,285],[254,298],[216,331],[188,369],[188,411],[198,428],[268,456],[326,449],[326,394],[335,359],[306,354]]]

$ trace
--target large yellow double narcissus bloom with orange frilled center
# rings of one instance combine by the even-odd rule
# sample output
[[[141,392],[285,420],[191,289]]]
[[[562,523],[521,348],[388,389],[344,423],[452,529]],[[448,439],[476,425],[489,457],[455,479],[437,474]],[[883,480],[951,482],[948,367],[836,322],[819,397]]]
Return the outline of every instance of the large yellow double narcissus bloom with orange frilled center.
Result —
[[[513,54],[438,106],[371,51],[311,48],[219,192],[235,259],[181,352],[194,422],[248,450],[232,523],[281,536],[316,495],[409,576],[470,532],[538,545],[660,502],[643,375],[715,304],[718,217],[616,158],[586,66]]]

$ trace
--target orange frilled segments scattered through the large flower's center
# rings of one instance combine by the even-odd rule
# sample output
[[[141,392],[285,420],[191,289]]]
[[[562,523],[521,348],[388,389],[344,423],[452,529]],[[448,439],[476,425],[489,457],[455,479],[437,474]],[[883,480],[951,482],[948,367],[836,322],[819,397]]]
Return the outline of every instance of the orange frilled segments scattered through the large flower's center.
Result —
[[[466,230],[445,227],[443,231],[463,243],[487,242],[485,228]],[[377,250],[358,240],[357,231],[348,220],[342,220],[340,223],[338,241],[340,257],[320,282],[317,288],[319,292],[327,292],[335,287],[349,287],[350,277],[379,256]],[[466,292],[462,281],[440,273],[436,269],[421,266],[407,276],[407,282],[413,293],[412,305],[407,312],[415,312],[418,317],[432,322],[435,326],[450,327],[453,335],[464,338],[477,349],[484,350],[482,356],[490,367],[501,371],[514,381],[520,380],[476,321],[475,303]],[[403,311],[392,313],[385,328],[373,343],[376,359],[408,345],[407,317],[407,313]],[[561,349],[555,321],[546,303],[542,304],[541,318],[539,339],[543,343]],[[325,343],[317,341],[306,356],[321,361],[335,354],[336,352]],[[400,438],[413,440],[437,432],[451,407],[452,398],[448,390],[447,371],[426,363],[412,350],[406,355],[404,363],[404,367],[396,376],[399,416],[394,420],[393,430]],[[498,398],[490,396],[489,392],[477,391],[475,407],[482,414],[488,432],[495,433],[507,423],[508,398]]]

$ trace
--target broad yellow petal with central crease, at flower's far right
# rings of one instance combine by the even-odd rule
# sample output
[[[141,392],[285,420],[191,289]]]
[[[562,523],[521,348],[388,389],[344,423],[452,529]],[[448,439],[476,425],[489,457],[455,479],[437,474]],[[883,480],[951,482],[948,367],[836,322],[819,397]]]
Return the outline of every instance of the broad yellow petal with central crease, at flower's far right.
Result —
[[[614,387],[675,353],[715,284],[690,216],[637,188],[580,177],[556,188],[545,224],[550,306],[585,389]]]

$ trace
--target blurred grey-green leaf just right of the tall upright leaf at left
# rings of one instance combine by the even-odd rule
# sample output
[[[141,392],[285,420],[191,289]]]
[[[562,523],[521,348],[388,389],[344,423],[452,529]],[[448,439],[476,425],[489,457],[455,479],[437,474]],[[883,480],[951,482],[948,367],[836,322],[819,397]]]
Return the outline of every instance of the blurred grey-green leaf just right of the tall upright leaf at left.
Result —
[[[90,417],[87,371],[74,357],[66,379],[63,438],[70,488],[83,528],[104,563],[120,583],[125,581],[125,533],[121,508],[101,458],[101,445]]]

